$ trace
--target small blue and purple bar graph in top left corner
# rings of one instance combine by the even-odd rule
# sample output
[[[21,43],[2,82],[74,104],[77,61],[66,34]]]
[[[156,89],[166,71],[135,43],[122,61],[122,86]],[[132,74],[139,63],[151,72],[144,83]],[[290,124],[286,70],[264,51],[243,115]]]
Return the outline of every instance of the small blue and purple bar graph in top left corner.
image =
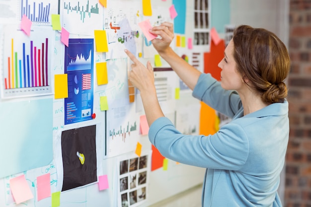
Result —
[[[33,22],[49,22],[50,15],[50,3],[43,4],[43,2],[33,2],[30,4],[30,0],[21,0],[21,16],[24,14]]]

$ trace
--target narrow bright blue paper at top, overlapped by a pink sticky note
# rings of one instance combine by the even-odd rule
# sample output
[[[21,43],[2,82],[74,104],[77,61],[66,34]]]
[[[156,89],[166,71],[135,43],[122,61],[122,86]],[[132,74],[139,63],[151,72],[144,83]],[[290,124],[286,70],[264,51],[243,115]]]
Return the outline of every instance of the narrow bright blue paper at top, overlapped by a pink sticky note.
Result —
[[[173,0],[177,16],[174,18],[174,32],[185,34],[186,0]]]

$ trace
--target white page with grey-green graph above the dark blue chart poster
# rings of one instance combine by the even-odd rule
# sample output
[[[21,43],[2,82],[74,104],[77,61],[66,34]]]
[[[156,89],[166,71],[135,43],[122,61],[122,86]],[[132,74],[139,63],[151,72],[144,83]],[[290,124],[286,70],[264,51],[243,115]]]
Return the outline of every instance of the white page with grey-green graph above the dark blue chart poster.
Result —
[[[60,12],[63,27],[71,34],[103,30],[103,6],[98,0],[61,0]]]

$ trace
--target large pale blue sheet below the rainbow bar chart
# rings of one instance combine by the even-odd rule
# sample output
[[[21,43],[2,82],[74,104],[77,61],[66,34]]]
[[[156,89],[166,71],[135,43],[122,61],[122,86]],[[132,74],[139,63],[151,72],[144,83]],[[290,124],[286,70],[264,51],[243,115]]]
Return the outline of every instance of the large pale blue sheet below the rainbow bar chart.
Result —
[[[53,99],[0,102],[0,178],[42,167],[53,159]]]

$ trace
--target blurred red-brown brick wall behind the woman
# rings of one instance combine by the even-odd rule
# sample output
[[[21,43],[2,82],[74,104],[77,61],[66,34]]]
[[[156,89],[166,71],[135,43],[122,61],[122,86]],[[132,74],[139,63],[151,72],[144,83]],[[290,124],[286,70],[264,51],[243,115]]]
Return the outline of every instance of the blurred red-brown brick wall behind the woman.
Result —
[[[285,207],[311,207],[311,0],[290,0]]]

